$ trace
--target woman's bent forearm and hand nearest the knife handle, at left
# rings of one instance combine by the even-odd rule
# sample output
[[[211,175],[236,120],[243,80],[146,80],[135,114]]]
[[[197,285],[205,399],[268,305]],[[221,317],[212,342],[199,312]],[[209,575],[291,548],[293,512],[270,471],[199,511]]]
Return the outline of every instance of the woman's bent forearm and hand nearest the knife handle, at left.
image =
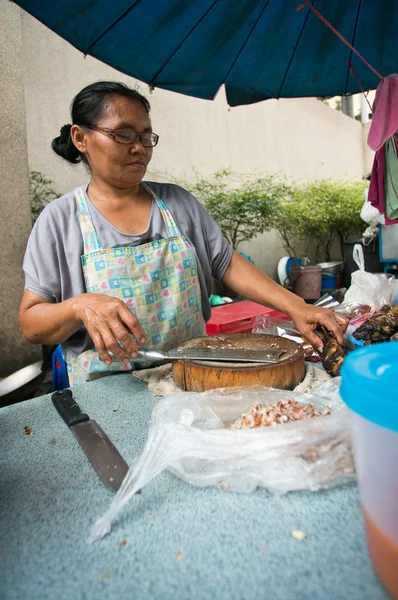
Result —
[[[131,334],[139,343],[145,342],[144,330],[124,302],[104,294],[80,294],[52,303],[26,290],[19,320],[32,344],[61,344],[84,325],[106,364],[112,362],[110,352],[123,362],[137,355]]]

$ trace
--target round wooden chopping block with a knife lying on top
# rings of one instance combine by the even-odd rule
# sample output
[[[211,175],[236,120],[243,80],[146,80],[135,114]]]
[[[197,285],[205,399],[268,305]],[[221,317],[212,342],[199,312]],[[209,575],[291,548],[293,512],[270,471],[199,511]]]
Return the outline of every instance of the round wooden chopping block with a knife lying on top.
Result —
[[[185,348],[236,348],[285,350],[279,363],[236,363],[205,360],[173,360],[173,378],[181,389],[203,392],[214,388],[262,385],[292,390],[305,377],[304,351],[300,344],[276,335],[231,333],[195,338]]]

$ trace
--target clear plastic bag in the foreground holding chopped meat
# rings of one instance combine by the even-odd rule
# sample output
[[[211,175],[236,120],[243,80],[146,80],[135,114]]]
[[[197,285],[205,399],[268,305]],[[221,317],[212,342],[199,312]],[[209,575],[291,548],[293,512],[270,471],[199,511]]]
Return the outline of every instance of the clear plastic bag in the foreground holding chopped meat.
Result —
[[[312,394],[272,388],[181,392],[159,401],[144,451],[131,467],[111,506],[93,526],[106,535],[119,511],[164,469],[199,487],[252,492],[319,490],[354,478],[348,410],[336,378]],[[258,429],[228,429],[253,404],[292,398],[332,413]],[[225,429],[225,427],[227,429]]]

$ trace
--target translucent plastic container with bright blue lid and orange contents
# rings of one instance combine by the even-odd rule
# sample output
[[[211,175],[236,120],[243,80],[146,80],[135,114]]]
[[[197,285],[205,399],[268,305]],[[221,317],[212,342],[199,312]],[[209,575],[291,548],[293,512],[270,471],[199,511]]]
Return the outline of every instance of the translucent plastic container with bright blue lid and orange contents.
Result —
[[[352,411],[355,461],[369,554],[398,600],[398,342],[352,352],[340,393]]]

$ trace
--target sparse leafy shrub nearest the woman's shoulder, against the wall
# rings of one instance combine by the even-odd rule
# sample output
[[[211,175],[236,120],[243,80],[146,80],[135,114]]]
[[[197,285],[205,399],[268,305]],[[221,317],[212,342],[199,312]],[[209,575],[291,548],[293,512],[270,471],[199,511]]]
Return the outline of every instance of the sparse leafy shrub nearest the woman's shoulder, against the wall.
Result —
[[[235,250],[273,227],[274,213],[289,191],[280,176],[238,175],[228,170],[210,177],[196,174],[193,182],[176,183],[203,204]]]

